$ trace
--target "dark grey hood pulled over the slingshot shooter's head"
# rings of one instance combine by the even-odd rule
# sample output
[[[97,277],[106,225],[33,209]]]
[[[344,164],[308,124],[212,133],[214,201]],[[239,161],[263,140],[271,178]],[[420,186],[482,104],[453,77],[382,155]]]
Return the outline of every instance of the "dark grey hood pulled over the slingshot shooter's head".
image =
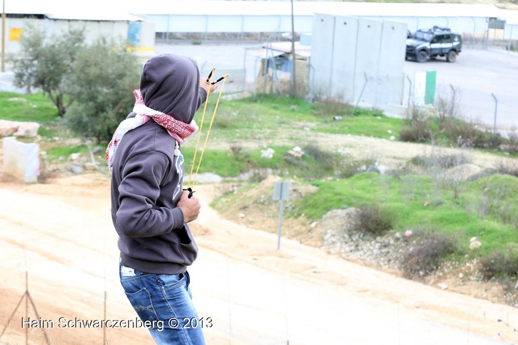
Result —
[[[147,107],[191,123],[199,106],[199,70],[186,56],[162,54],[144,65],[140,92]]]

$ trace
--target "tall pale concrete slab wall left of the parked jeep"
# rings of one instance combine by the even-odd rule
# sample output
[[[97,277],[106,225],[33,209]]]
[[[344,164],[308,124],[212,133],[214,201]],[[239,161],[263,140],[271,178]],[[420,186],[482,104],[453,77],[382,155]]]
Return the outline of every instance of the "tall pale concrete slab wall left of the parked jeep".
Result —
[[[403,102],[407,24],[315,14],[315,95],[364,107]]]

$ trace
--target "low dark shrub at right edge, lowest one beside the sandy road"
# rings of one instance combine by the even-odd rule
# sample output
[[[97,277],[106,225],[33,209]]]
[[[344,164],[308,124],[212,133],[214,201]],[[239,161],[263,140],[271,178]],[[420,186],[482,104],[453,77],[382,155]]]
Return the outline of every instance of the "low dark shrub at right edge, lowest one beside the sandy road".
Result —
[[[480,260],[481,273],[485,278],[518,276],[518,247],[508,247],[506,251],[494,251]]]

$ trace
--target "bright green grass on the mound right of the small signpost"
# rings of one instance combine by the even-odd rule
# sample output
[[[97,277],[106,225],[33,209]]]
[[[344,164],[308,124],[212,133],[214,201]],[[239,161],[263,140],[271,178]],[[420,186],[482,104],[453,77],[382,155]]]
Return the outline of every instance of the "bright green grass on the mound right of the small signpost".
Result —
[[[433,200],[434,181],[426,176],[412,176],[415,191],[406,188],[408,181],[373,173],[356,175],[339,181],[317,181],[318,192],[297,200],[292,217],[306,214],[310,219],[320,219],[336,208],[359,207],[380,203],[396,215],[395,231],[431,227],[445,234],[457,235],[465,248],[469,239],[477,236],[483,243],[481,252],[488,254],[504,243],[518,243],[518,178],[494,175],[477,181],[464,182],[458,199],[452,191],[440,191],[440,202]],[[487,194],[487,211],[481,217],[473,209],[473,200]],[[425,206],[426,205],[426,206]],[[508,215],[503,215],[506,211]]]

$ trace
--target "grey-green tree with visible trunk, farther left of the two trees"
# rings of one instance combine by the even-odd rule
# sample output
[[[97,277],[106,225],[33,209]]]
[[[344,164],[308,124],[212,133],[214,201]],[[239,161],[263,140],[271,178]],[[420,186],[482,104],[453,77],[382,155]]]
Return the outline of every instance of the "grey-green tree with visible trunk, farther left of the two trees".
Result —
[[[14,84],[45,92],[63,117],[74,98],[67,97],[66,84],[84,45],[84,28],[68,28],[59,35],[47,36],[38,26],[28,26],[22,35],[20,54],[13,59]]]

